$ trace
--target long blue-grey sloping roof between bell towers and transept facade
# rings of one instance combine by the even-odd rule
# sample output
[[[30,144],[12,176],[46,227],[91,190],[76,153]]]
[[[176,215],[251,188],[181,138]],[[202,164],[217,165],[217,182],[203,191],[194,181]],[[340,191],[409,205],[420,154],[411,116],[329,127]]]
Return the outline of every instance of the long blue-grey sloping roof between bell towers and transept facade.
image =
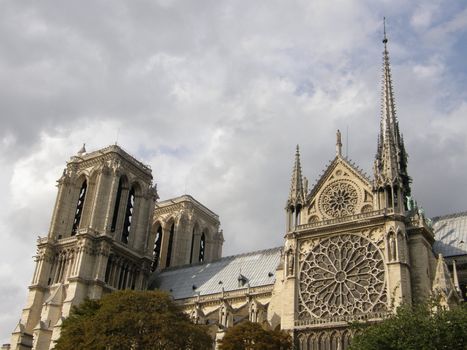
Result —
[[[163,270],[153,276],[150,288],[170,292],[174,299],[184,299],[272,285],[279,265],[281,248],[266,249],[191,266]],[[243,279],[244,285],[239,283]]]

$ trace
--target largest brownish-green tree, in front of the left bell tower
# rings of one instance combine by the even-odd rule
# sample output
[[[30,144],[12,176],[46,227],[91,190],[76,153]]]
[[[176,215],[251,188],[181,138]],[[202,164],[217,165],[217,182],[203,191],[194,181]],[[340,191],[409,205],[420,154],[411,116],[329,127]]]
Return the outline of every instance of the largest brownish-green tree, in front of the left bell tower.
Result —
[[[204,326],[160,291],[118,291],[74,307],[56,350],[212,349]]]

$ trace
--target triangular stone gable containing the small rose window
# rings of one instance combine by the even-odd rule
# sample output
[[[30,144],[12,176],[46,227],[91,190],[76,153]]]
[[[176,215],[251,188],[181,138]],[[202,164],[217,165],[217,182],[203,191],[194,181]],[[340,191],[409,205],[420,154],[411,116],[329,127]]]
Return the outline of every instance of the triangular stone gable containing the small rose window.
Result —
[[[336,157],[307,197],[302,223],[373,210],[370,181],[346,159]]]

